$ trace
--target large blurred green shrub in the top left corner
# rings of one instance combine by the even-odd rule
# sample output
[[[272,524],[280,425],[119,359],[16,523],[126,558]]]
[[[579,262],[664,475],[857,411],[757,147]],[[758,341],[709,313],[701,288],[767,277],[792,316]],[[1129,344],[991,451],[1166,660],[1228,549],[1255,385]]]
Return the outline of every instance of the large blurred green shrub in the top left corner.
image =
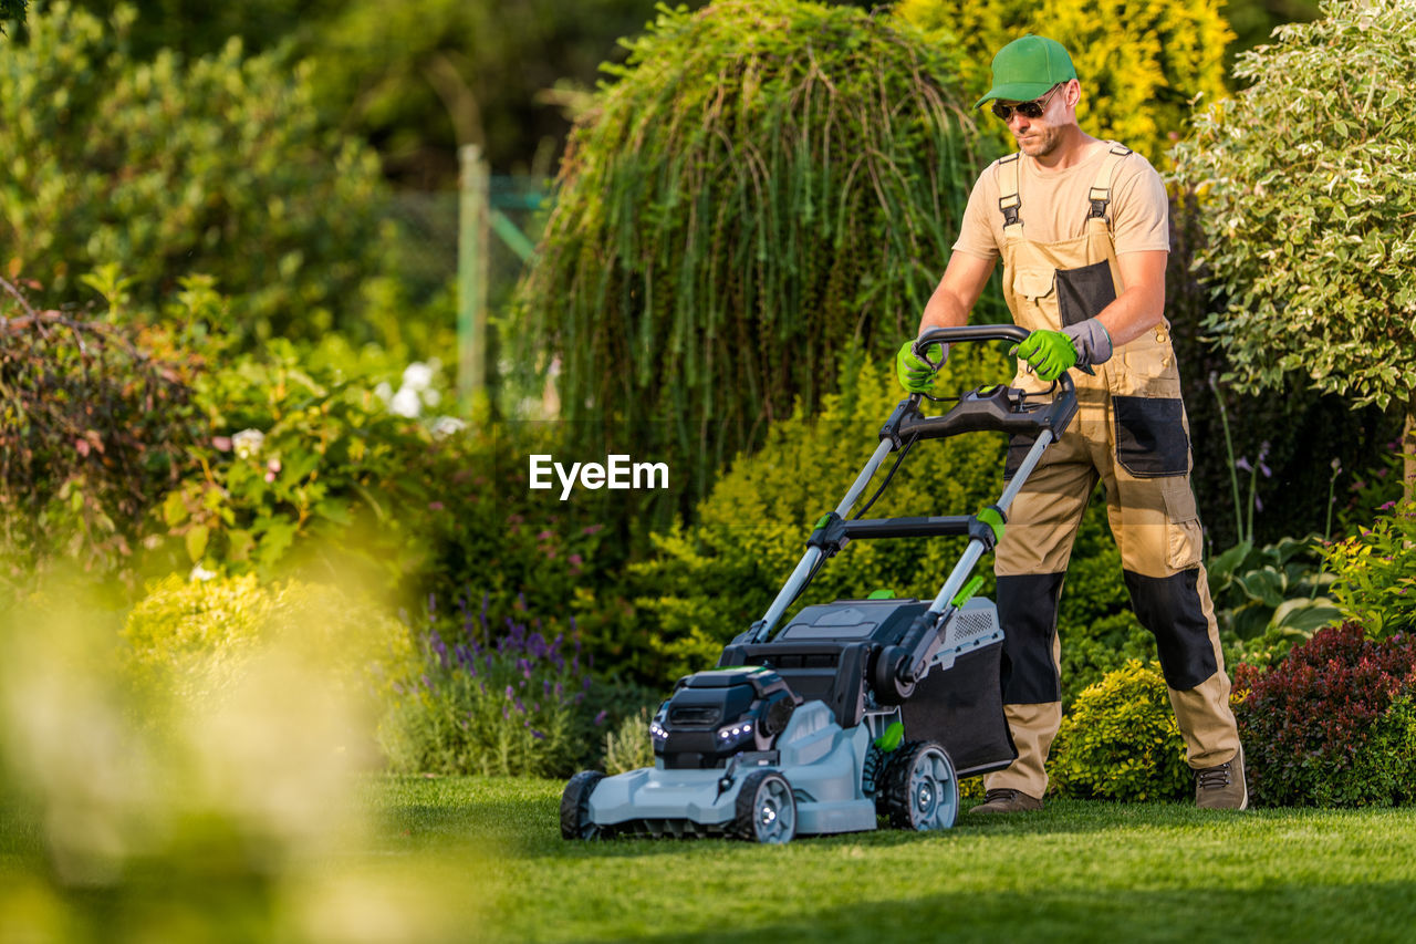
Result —
[[[321,125],[309,67],[235,41],[136,61],[136,17],[54,3],[6,44],[6,259],[67,300],[116,262],[152,308],[183,275],[210,274],[248,343],[350,327],[357,288],[388,255],[372,150]]]

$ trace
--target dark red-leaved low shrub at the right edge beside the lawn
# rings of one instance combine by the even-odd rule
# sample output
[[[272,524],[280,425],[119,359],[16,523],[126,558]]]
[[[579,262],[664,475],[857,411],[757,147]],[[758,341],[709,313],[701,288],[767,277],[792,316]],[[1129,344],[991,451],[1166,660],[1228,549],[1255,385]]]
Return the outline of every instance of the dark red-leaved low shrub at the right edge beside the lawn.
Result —
[[[1249,794],[1270,807],[1386,807],[1416,798],[1416,641],[1320,629],[1270,672],[1239,666]]]

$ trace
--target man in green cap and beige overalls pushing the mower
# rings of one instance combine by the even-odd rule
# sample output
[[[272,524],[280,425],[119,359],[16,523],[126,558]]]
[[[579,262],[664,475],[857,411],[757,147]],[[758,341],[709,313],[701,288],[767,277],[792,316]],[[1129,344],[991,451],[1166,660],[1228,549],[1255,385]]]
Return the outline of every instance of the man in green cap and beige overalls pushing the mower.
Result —
[[[1058,601],[1097,481],[1131,605],[1157,639],[1195,801],[1243,809],[1243,753],[1201,564],[1188,422],[1163,315],[1165,189],[1144,157],[1078,128],[1080,96],[1072,58],[1054,40],[1022,37],[994,57],[993,88],[977,106],[994,103],[1018,153],[980,176],[919,325],[967,323],[1001,257],[1008,309],[1031,332],[1018,346],[1027,366],[1014,384],[1042,391],[1080,369],[1072,374],[1078,415],[1012,503],[997,547],[1004,703],[1018,758],[984,780],[986,801],[973,812],[1042,808],[1044,763],[1062,720]],[[906,390],[933,383],[910,343],[898,369]],[[1021,461],[1029,445],[1011,444],[1011,458]],[[1010,462],[1005,475],[1014,471]]]

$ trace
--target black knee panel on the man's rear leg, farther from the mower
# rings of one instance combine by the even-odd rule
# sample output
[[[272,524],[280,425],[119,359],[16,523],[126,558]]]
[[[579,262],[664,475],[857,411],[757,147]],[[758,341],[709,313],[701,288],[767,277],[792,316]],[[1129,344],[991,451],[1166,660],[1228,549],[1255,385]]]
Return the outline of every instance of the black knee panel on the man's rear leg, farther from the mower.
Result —
[[[1209,621],[1205,619],[1197,587],[1199,568],[1171,577],[1123,573],[1136,617],[1155,636],[1165,685],[1184,692],[1218,672],[1215,648],[1209,642]]]

